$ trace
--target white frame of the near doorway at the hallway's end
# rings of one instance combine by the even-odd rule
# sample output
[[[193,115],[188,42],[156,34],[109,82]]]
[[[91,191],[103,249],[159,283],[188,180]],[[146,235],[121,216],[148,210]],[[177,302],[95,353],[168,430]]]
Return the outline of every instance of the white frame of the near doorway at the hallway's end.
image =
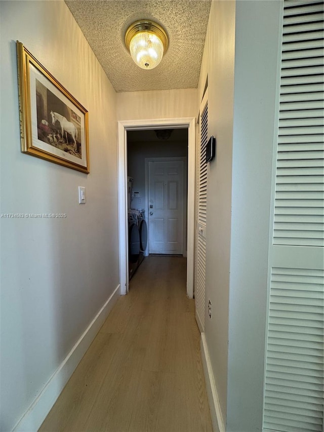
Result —
[[[193,298],[194,219],[195,219],[195,117],[175,119],[123,120],[118,133],[118,220],[119,279],[121,295],[129,290],[127,223],[127,131],[150,129],[188,129],[188,199],[187,199],[187,296]]]

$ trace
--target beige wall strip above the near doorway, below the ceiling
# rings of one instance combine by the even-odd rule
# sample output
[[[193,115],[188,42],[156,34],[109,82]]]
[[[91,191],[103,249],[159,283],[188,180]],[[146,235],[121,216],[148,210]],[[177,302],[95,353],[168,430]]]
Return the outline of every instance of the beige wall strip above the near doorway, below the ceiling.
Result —
[[[117,120],[196,117],[196,95],[196,89],[117,93]]]

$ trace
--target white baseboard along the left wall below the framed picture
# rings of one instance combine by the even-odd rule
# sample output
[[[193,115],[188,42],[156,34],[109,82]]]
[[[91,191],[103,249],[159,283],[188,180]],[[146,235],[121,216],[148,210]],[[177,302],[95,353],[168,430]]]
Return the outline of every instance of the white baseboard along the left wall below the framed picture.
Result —
[[[85,355],[91,342],[105,322],[110,310],[119,296],[120,285],[116,287],[108,300],[101,307],[88,328],[72,347],[67,357],[63,360],[58,369],[54,372],[36,399],[19,420],[13,429],[15,432],[35,432],[35,430],[38,430],[55,404],[57,398],[60,396],[61,391],[76,369],[80,360]]]

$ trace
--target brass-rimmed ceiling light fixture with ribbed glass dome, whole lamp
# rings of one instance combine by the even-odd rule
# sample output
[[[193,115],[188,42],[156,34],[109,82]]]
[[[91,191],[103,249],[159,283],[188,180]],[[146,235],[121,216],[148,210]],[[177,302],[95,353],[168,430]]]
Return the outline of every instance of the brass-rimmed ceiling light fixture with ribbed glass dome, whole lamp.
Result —
[[[168,36],[163,27],[150,20],[134,22],[126,31],[125,44],[132,59],[142,69],[153,69],[168,49]]]

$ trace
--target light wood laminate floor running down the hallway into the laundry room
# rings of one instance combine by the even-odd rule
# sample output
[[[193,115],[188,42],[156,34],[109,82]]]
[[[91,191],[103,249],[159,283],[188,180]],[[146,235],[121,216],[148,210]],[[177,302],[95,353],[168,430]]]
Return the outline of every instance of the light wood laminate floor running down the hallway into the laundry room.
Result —
[[[212,431],[185,258],[145,258],[39,431]]]

